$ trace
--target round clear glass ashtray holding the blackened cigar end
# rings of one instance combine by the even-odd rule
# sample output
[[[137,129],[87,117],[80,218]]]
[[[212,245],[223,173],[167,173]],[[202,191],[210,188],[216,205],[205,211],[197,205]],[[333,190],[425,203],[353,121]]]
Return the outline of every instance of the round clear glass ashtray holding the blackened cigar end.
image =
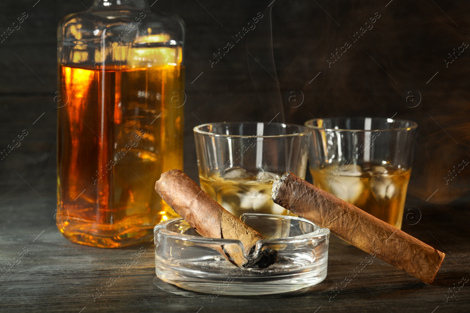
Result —
[[[251,255],[239,240],[202,237],[182,218],[155,226],[155,272],[178,287],[220,295],[262,295],[299,290],[327,275],[329,229],[300,217],[242,214],[240,220],[266,239]],[[220,247],[239,249],[249,262],[270,248],[277,261],[263,269],[237,267],[221,255]]]

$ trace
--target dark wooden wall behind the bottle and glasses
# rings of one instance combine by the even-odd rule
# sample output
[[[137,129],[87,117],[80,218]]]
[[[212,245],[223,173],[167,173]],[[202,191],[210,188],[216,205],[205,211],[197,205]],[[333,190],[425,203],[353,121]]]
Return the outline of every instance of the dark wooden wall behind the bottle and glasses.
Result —
[[[2,242],[18,246],[22,244],[18,234],[27,232],[25,229],[36,232],[37,225],[54,226],[56,28],[64,15],[92,3],[36,1],[0,2],[0,33],[23,12],[28,14],[21,28],[0,43],[0,150],[23,130],[28,132],[21,145],[0,160]],[[231,36],[264,12],[270,2],[158,0],[152,7],[177,14],[186,23],[184,161],[185,171],[195,180],[194,126],[272,118],[269,110],[259,107],[248,69],[246,38],[213,67],[209,61],[212,53],[232,41]],[[451,61],[448,53],[454,48],[470,43],[470,2],[275,0],[272,7],[274,60],[286,122],[302,124],[313,117],[338,115],[393,116],[418,122],[407,207],[421,208],[423,221],[435,229],[444,223],[454,234],[468,237],[470,166],[447,184],[445,177],[462,160],[470,160],[470,47],[447,67],[445,60]],[[373,29],[329,67],[330,53],[345,41],[352,42],[349,36],[376,12],[380,18]],[[409,95],[412,97],[406,99]],[[53,232],[56,230],[51,229],[51,234],[57,234]],[[436,237],[426,236],[430,244],[438,246]],[[444,235],[439,239],[444,245],[453,240]],[[51,254],[55,253],[53,245]],[[462,245],[468,246],[468,242]],[[6,262],[7,258],[2,263]],[[4,294],[0,297],[5,301]],[[468,299],[468,293],[462,298]]]

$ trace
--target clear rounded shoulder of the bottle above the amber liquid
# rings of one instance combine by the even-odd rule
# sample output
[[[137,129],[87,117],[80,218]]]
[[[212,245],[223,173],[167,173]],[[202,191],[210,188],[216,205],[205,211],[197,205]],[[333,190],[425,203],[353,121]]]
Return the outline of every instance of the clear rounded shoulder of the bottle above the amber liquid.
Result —
[[[149,11],[83,11],[66,15],[58,28],[58,62],[77,67],[182,63],[184,23]]]

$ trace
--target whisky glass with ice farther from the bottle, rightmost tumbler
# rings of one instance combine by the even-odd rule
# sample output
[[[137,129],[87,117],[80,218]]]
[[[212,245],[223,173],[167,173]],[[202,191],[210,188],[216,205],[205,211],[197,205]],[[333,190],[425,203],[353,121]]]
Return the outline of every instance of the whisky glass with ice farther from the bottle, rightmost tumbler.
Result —
[[[418,124],[375,117],[305,122],[313,183],[401,228]]]

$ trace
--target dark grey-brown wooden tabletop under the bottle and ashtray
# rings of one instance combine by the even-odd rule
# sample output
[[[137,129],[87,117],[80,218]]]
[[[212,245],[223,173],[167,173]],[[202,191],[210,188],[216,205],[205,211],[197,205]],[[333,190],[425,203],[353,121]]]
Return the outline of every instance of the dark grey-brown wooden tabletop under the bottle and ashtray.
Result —
[[[327,278],[316,286],[286,294],[248,297],[214,296],[182,290],[155,275],[153,245],[144,245],[138,263],[129,267],[110,288],[110,277],[141,246],[100,249],[73,244],[56,229],[51,214],[51,188],[26,183],[2,198],[1,265],[19,263],[0,278],[1,312],[468,312],[470,249],[467,211],[426,211],[403,229],[446,253],[431,286],[381,260],[352,273],[367,254],[332,236]],[[48,190],[48,191],[47,191]],[[40,196],[39,196],[40,195]],[[44,201],[40,198],[44,198]],[[21,212],[21,214],[17,214]],[[415,220],[416,221],[416,220]],[[439,227],[436,221],[440,221]],[[410,222],[411,223],[411,222]],[[414,222],[413,222],[414,223]],[[24,254],[21,252],[27,251]],[[5,268],[5,267],[4,267]],[[7,266],[8,268],[8,266]],[[358,273],[356,270],[354,273]],[[350,277],[345,288],[332,291]],[[462,286],[462,282],[460,283]],[[449,291],[454,290],[456,291]],[[451,297],[452,296],[452,297]]]

